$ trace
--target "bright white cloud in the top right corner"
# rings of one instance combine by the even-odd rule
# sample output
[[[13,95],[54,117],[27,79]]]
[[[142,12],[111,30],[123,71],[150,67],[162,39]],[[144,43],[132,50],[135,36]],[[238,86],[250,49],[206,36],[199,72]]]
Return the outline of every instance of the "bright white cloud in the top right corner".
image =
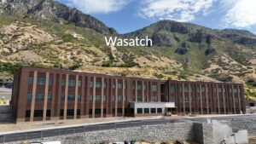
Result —
[[[224,0],[224,4],[228,5],[227,3],[230,3],[230,0]],[[256,26],[255,0],[236,0],[236,2],[230,3],[230,5],[230,9],[228,9],[223,19],[225,26],[235,26],[238,28]]]

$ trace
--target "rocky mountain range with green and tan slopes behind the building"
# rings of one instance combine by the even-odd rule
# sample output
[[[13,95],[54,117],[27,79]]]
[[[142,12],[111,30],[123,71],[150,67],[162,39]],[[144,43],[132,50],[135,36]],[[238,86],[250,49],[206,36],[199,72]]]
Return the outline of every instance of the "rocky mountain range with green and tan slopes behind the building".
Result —
[[[150,37],[152,47],[108,47],[105,36]],[[0,0],[0,78],[19,66],[122,76],[241,82],[256,97],[256,36],[160,20],[120,35],[52,0]]]

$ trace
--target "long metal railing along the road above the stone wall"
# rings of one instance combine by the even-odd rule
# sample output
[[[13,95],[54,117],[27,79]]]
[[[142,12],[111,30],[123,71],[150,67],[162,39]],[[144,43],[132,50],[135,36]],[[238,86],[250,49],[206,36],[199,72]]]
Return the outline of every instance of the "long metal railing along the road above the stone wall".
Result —
[[[20,132],[9,135],[0,135],[0,143],[12,142],[12,141],[28,141],[34,139],[42,139],[44,137],[60,136],[60,135],[73,135],[78,133],[86,133],[90,131],[98,130],[115,130],[122,128],[132,128],[140,127],[143,125],[157,125],[157,124],[167,124],[169,121],[165,119],[157,120],[145,120],[145,121],[131,121],[131,122],[120,122],[120,123],[110,123],[110,124],[96,124],[96,125],[86,125],[72,128],[64,129],[52,129],[52,130],[37,130],[32,132]]]

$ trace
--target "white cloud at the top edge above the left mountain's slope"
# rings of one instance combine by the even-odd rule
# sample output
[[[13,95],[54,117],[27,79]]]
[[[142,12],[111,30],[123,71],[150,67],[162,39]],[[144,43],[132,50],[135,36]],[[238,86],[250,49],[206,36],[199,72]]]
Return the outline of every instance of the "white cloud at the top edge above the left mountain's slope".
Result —
[[[69,6],[86,14],[108,14],[122,9],[129,0],[67,0]]]

